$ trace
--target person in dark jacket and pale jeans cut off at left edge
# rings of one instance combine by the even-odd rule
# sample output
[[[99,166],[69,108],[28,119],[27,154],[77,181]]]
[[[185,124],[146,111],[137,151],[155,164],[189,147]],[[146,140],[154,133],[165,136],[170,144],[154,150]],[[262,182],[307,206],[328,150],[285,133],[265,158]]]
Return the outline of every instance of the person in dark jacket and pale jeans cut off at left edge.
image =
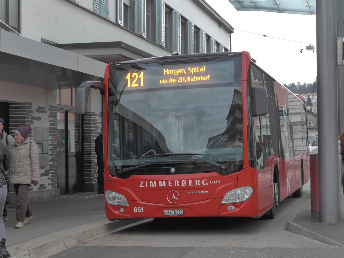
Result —
[[[7,197],[7,187],[10,182],[8,171],[4,169],[4,165],[10,167],[10,160],[9,151],[6,143],[0,141],[0,212],[3,212],[3,208],[5,207],[6,197]],[[0,217],[0,241],[1,241],[1,257],[7,258],[10,257],[6,249],[6,235],[5,235],[5,226],[3,225],[2,216]]]

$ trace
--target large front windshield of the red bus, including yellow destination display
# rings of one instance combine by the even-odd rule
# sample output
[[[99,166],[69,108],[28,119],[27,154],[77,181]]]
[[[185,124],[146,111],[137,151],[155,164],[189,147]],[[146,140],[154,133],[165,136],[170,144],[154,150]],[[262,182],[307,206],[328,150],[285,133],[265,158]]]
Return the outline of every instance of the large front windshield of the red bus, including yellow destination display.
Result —
[[[108,85],[110,174],[242,169],[241,56],[125,62]]]

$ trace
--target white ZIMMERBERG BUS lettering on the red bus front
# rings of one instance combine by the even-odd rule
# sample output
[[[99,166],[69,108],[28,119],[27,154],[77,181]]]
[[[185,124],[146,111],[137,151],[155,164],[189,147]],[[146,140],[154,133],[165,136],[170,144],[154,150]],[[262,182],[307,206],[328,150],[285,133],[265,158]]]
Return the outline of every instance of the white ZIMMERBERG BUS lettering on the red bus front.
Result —
[[[201,185],[208,185],[208,184],[220,184],[220,180],[208,180],[203,179],[202,181],[199,179],[190,179],[190,180],[161,180],[161,181],[140,181],[139,187],[174,187],[174,186],[201,186]]]

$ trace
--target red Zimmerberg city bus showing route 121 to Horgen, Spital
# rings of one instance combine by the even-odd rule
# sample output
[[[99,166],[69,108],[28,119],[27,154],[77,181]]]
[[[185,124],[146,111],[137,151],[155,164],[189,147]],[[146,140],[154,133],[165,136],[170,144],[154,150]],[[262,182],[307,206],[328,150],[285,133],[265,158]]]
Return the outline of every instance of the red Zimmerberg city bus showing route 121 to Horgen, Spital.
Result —
[[[104,83],[109,220],[275,217],[310,178],[306,105],[248,52],[110,63]]]

